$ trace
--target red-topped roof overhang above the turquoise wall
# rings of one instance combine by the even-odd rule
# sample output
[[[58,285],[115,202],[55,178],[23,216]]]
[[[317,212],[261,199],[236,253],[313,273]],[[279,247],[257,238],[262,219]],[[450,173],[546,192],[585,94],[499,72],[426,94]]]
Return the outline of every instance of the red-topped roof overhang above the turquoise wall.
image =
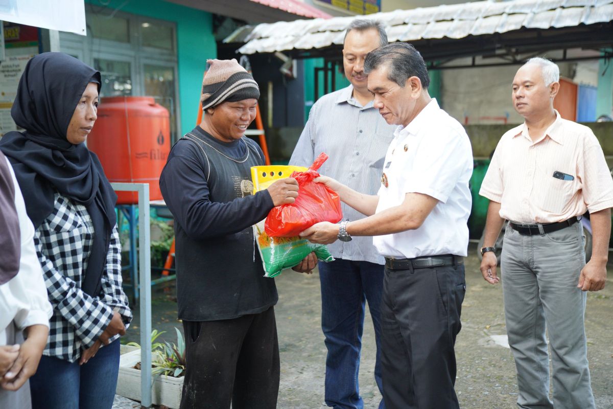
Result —
[[[274,23],[298,18],[330,18],[328,13],[299,0],[166,0],[250,23]]]

